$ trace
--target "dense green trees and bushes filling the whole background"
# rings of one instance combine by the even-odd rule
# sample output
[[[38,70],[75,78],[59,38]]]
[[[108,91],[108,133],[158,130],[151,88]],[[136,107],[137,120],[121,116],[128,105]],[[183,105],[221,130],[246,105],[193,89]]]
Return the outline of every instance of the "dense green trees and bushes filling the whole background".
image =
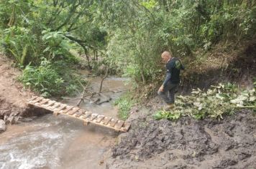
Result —
[[[24,69],[22,82],[44,95],[60,95],[79,88],[79,79],[68,74],[83,58],[88,69],[97,72],[104,65],[143,88],[160,81],[164,50],[189,64],[216,44],[236,48],[255,38],[256,5],[247,0],[1,0],[0,19],[1,51]]]

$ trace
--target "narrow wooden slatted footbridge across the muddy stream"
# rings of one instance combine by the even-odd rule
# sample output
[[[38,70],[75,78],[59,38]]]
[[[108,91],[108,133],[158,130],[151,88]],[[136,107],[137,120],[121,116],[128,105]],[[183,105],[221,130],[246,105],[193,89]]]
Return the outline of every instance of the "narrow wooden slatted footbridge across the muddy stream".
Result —
[[[29,105],[50,110],[55,115],[68,115],[70,117],[83,120],[85,125],[88,125],[88,123],[91,122],[95,125],[101,125],[122,132],[127,132],[130,127],[130,124],[128,122],[124,122],[123,120],[117,120],[112,117],[87,112],[79,107],[65,105],[60,102],[45,99],[44,97],[32,97],[32,99],[29,100]]]

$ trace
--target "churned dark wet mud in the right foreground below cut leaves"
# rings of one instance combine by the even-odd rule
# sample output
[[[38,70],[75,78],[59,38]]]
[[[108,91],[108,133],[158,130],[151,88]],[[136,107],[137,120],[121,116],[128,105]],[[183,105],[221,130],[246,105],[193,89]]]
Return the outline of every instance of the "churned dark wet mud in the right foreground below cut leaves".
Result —
[[[109,168],[255,168],[256,117],[242,111],[224,120],[132,120],[111,150]]]

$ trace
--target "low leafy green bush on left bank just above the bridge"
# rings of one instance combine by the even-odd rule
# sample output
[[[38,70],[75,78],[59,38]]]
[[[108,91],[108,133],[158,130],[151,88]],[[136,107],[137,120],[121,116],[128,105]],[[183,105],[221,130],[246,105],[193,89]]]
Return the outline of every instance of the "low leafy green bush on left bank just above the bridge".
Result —
[[[63,67],[60,68],[60,65],[66,66],[65,64],[57,63],[52,64],[43,59],[39,67],[27,65],[19,80],[25,87],[41,93],[43,97],[72,94],[81,90],[77,82],[80,79],[67,70],[63,71]]]

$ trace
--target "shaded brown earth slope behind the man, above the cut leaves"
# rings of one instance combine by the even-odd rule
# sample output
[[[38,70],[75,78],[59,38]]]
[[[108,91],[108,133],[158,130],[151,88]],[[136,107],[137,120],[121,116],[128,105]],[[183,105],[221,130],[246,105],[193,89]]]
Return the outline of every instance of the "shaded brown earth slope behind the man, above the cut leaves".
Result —
[[[234,47],[234,46],[233,46]],[[201,52],[195,54],[200,56]],[[200,60],[188,57],[182,72],[180,92],[189,93],[193,88],[207,89],[219,82],[232,82],[241,87],[252,87],[256,76],[256,39],[242,42],[237,49],[227,49],[218,44]]]

